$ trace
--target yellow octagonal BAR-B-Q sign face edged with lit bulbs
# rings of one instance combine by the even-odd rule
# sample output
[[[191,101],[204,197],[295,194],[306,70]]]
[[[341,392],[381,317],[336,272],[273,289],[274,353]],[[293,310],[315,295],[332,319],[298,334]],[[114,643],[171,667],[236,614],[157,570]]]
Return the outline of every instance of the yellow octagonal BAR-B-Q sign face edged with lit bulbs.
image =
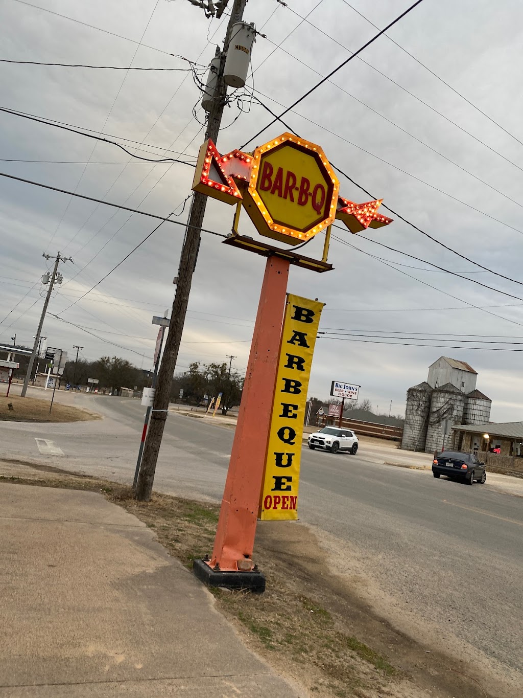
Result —
[[[284,133],[255,150],[247,208],[261,235],[298,244],[333,223],[339,191],[324,151]]]

